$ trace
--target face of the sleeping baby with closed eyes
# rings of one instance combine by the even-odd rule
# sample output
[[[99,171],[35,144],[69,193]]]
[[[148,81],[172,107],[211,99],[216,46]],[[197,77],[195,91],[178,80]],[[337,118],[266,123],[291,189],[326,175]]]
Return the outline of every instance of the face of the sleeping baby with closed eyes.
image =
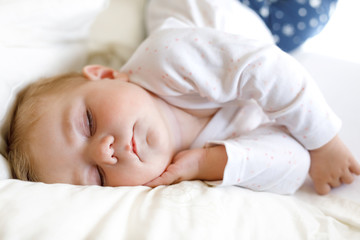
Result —
[[[40,181],[132,186],[160,176],[174,140],[158,101],[137,85],[109,79],[50,97],[31,143]]]

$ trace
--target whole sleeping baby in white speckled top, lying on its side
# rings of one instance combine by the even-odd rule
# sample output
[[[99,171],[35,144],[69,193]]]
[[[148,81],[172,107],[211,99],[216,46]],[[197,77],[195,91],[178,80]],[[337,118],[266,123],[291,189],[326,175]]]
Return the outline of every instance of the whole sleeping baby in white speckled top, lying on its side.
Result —
[[[19,93],[8,134],[14,176],[150,187],[222,180],[280,194],[308,173],[319,194],[351,183],[360,166],[302,66],[271,42],[196,26],[179,2],[150,1],[149,37],[119,71],[88,65]]]

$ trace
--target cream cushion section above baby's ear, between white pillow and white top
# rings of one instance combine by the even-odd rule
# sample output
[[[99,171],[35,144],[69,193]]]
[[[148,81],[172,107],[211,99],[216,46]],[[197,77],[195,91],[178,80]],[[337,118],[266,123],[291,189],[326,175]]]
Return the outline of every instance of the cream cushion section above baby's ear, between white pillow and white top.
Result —
[[[148,0],[111,0],[93,24],[89,64],[120,68],[145,38],[144,12]]]

